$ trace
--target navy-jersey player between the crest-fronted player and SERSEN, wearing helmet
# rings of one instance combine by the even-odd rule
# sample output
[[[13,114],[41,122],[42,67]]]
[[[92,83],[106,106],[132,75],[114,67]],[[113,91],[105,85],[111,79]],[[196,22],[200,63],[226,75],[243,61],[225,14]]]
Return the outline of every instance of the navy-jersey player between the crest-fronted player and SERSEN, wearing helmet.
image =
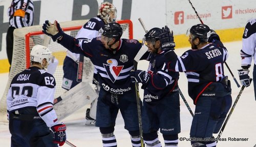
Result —
[[[144,37],[150,61],[147,71],[130,73],[133,82],[142,83],[144,89],[142,108],[143,139],[147,146],[161,147],[158,130],[163,134],[165,146],[178,146],[180,133],[179,72],[167,70],[164,53],[174,50],[173,33],[167,27],[154,27]],[[143,59],[143,58],[142,58]]]

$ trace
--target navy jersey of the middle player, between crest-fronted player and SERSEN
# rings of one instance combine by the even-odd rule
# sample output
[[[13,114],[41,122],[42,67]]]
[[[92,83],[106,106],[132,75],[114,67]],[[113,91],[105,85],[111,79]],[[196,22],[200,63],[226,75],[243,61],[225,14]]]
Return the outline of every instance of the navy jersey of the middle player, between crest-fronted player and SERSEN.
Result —
[[[167,69],[167,60],[164,57],[165,52],[166,50],[157,54],[150,53],[145,58],[147,61],[150,61],[147,73],[151,74],[151,78],[144,89],[144,100],[146,102],[159,101],[173,92],[178,83],[179,72]],[[144,86],[142,85],[142,87]]]

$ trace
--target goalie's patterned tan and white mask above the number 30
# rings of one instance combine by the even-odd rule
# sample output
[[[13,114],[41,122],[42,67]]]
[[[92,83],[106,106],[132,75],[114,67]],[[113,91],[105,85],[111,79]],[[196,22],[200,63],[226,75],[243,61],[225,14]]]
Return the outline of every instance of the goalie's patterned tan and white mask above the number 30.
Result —
[[[99,6],[98,15],[108,23],[116,21],[116,13],[116,7],[109,2],[101,3]]]

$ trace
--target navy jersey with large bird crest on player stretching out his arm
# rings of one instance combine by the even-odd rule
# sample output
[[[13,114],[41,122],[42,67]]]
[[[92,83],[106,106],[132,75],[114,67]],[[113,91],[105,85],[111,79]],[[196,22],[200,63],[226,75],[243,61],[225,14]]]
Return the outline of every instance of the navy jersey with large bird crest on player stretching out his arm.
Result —
[[[59,43],[72,52],[90,58],[99,75],[100,86],[105,91],[123,94],[134,87],[129,73],[134,68],[134,57],[141,48],[139,41],[120,39],[116,53],[105,49],[100,37],[77,40],[65,34]]]

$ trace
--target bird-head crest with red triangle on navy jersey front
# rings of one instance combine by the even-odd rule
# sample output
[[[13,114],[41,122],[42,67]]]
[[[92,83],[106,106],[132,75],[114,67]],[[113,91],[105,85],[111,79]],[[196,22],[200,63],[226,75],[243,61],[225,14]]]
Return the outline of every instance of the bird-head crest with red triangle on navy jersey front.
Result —
[[[110,77],[111,81],[114,83],[123,69],[123,66],[118,66],[118,62],[113,58],[107,60],[106,63],[108,64],[103,64],[104,68],[106,69],[106,73]]]

